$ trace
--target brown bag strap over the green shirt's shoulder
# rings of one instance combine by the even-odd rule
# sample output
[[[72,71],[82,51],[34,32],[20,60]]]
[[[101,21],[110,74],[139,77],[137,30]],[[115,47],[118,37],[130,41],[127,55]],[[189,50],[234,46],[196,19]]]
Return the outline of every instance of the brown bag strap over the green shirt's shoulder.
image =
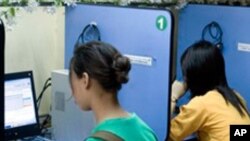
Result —
[[[95,132],[89,138],[97,138],[97,139],[102,139],[104,141],[124,141],[121,137],[115,135],[114,133],[103,130]]]

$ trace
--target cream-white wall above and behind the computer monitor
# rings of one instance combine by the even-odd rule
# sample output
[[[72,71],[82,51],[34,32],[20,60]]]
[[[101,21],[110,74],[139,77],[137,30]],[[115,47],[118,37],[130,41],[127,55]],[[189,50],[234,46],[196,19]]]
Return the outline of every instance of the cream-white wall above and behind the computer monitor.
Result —
[[[64,67],[64,7],[48,14],[43,7],[17,12],[17,25],[6,31],[5,73],[32,70],[37,96],[51,71]],[[51,87],[45,91],[40,115],[50,111]]]

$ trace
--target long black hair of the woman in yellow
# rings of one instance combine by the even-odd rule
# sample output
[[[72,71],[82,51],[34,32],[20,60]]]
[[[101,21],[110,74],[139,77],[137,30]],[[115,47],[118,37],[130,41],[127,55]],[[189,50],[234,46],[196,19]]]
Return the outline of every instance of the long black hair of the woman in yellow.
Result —
[[[244,116],[243,110],[248,113],[240,98],[228,86],[223,55],[212,43],[201,40],[187,48],[181,56],[181,67],[191,98],[216,89],[241,116]]]

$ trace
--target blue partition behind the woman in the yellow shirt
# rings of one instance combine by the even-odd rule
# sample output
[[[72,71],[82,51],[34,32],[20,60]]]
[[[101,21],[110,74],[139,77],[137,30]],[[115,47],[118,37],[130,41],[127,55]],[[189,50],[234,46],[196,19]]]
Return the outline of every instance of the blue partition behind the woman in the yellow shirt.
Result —
[[[217,21],[223,30],[223,55],[229,85],[248,101],[250,109],[250,52],[237,50],[239,42],[250,44],[250,8],[188,5],[179,13],[178,72],[181,78],[180,56],[187,46],[201,39],[205,25]]]

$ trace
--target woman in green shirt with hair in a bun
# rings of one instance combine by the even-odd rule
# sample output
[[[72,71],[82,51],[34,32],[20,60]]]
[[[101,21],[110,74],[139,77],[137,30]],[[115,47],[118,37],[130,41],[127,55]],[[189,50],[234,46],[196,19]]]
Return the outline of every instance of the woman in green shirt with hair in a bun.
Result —
[[[82,110],[93,111],[97,122],[87,141],[102,141],[107,136],[124,141],[157,140],[146,123],[119,104],[117,94],[128,82],[130,68],[129,59],[110,44],[92,41],[76,47],[70,63],[73,96]]]

